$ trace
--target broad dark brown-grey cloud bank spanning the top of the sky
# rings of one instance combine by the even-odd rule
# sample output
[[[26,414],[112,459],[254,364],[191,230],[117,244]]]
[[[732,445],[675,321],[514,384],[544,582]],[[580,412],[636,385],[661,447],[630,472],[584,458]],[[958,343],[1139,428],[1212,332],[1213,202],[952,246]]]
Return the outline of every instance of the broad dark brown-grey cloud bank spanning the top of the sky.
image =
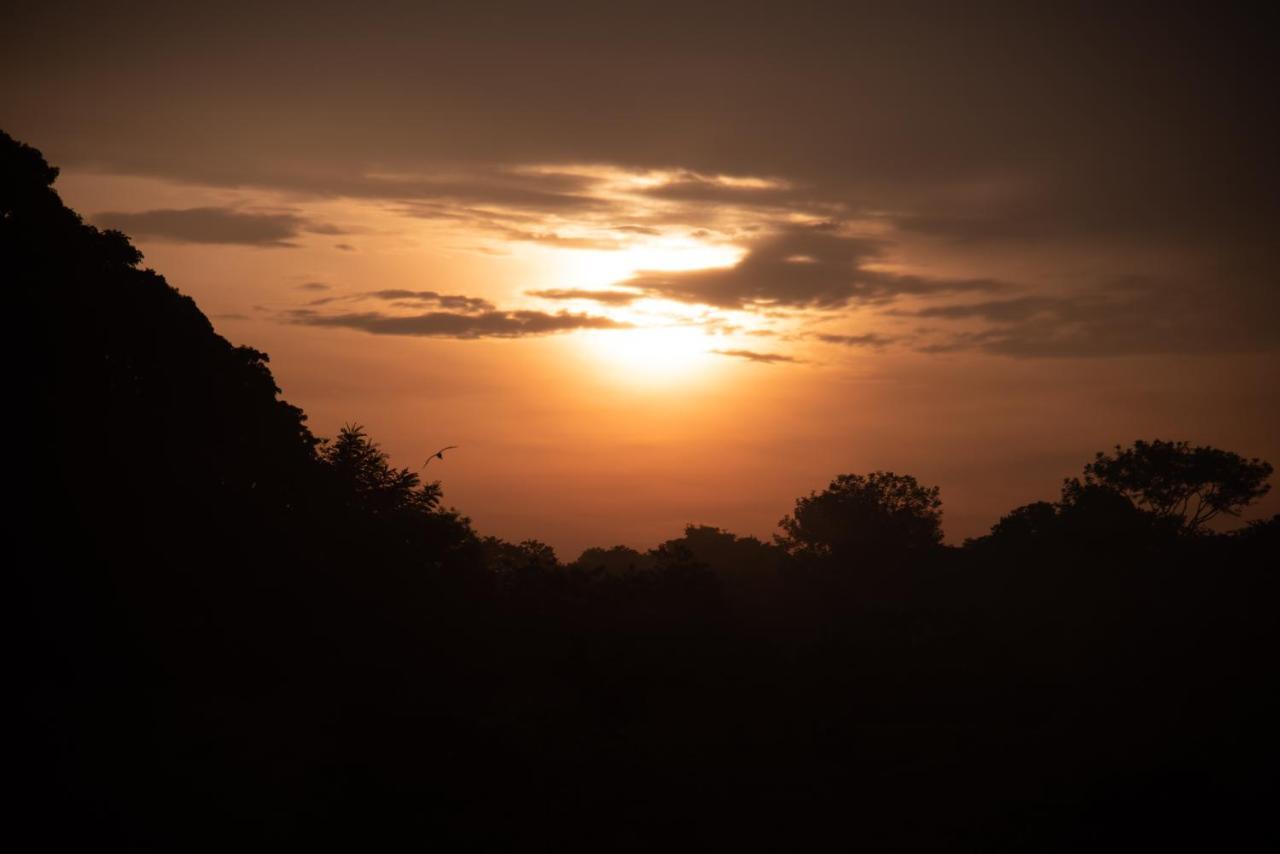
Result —
[[[847,27],[709,12],[680,15],[672,38],[649,5],[516,4],[502,27],[424,6],[333,29],[225,13],[198,26],[196,13],[70,20],[46,5],[6,20],[0,72],[35,86],[6,120],[65,151],[68,168],[559,211],[595,204],[564,164],[678,166],[685,177],[649,197],[741,201],[777,191],[705,175],[776,175],[851,209],[911,211],[906,227],[931,233],[1266,238],[1277,222],[1276,136],[1257,109],[1271,45],[1234,13],[1207,32],[1197,15],[1151,27],[1135,9],[1112,9],[1106,26],[1037,9],[963,27],[950,12],[864,9]],[[527,36],[543,32],[554,37]],[[197,73],[183,58],[210,40],[220,49]],[[543,61],[552,42],[558,61]],[[157,44],[173,50],[146,52]],[[325,97],[297,99],[301,86]],[[247,132],[210,133],[210,115]],[[970,192],[993,175],[1042,192]]]

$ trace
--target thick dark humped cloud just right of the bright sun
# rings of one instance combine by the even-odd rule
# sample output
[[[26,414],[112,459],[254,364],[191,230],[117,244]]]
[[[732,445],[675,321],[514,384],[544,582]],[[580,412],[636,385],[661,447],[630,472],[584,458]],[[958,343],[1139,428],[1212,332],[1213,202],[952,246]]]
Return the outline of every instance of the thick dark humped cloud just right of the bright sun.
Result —
[[[881,251],[879,241],[842,234],[829,223],[792,225],[756,241],[731,268],[643,271],[622,284],[669,300],[727,309],[838,309],[851,302],[890,302],[908,294],[1006,287],[992,279],[938,279],[867,269]]]

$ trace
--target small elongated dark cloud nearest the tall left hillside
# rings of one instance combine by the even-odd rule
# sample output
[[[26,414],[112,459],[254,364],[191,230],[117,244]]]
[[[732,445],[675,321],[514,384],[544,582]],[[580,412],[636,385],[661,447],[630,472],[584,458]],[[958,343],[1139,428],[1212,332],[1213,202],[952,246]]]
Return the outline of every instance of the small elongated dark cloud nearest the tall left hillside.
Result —
[[[232,207],[105,211],[95,216],[93,222],[131,237],[179,243],[239,243],[262,247],[294,246],[289,241],[303,230],[326,228],[314,225],[296,214],[253,214]]]

